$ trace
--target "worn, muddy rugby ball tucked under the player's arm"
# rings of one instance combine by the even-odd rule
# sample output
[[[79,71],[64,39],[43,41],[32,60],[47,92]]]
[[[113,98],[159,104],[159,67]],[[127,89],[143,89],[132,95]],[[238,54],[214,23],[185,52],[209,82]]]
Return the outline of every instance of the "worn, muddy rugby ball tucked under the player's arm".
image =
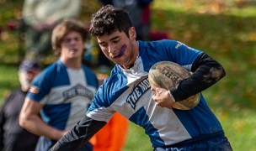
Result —
[[[184,69],[181,65],[171,61],[160,61],[152,65],[148,72],[148,81],[150,86],[163,87],[171,89],[179,84],[179,81],[191,76],[189,70]],[[200,94],[189,96],[189,98],[175,102],[173,108],[179,110],[189,110],[195,107],[200,102]]]

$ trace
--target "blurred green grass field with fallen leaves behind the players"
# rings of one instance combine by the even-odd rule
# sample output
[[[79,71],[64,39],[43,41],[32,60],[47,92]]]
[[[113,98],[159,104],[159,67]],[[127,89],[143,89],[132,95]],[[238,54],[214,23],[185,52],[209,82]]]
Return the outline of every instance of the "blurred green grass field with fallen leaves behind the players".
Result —
[[[0,4],[4,2],[0,0]],[[227,76],[203,94],[220,119],[234,151],[253,151],[256,150],[253,144],[256,140],[256,5],[249,0],[243,2],[155,0],[152,30],[168,32],[171,39],[202,49],[224,65]],[[84,20],[99,7],[93,2],[84,4],[88,5],[93,7],[84,9]],[[0,10],[3,24],[9,18],[17,18],[20,8],[17,3],[5,6]],[[4,32],[0,39],[0,100],[19,84],[17,48],[15,32]],[[152,145],[141,128],[130,124],[124,150],[147,151],[152,150]]]

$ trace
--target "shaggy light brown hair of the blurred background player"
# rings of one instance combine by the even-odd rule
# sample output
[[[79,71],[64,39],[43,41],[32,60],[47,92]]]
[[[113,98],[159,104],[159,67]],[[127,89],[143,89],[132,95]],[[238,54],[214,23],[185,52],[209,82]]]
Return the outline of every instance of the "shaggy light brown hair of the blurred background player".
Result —
[[[88,39],[88,31],[85,29],[83,23],[80,23],[74,19],[63,20],[61,23],[56,25],[51,34],[51,45],[54,49],[54,54],[56,57],[61,55],[61,43],[63,39],[72,31],[81,34],[83,42]],[[84,49],[84,51],[85,50],[86,49]]]

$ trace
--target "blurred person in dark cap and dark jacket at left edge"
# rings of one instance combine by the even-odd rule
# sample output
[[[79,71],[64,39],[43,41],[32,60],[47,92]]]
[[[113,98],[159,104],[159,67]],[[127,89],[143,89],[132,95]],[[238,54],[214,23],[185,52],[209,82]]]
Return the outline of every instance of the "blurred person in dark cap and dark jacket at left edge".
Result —
[[[23,60],[19,65],[20,86],[5,98],[0,111],[0,150],[35,151],[38,136],[19,126],[19,112],[31,81],[40,72],[35,60]]]

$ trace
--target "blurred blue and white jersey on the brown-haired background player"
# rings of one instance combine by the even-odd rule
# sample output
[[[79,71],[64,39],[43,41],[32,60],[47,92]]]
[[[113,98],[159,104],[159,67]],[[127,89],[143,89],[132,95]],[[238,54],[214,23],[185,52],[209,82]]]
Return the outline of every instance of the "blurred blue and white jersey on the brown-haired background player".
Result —
[[[57,60],[35,77],[27,96],[45,105],[40,111],[44,122],[63,130],[84,116],[97,88],[97,77],[86,66],[72,70]]]

